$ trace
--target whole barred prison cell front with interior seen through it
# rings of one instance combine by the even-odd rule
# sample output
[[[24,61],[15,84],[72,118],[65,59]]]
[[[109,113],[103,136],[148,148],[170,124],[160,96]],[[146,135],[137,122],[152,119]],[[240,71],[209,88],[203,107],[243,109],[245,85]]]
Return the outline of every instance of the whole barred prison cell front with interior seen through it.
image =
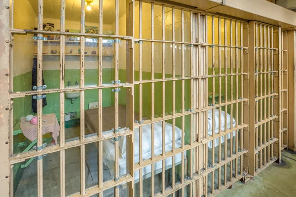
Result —
[[[28,180],[37,180],[33,196],[47,196],[50,181],[56,196],[216,196],[281,159],[288,143],[281,27],[149,0],[94,0],[94,19],[87,1],[69,8],[70,1],[50,13],[46,0],[12,0],[11,196]],[[18,14],[28,5],[37,21],[24,23]],[[22,62],[33,58],[37,90]],[[34,143],[19,126],[33,96]],[[43,135],[50,114],[55,143]],[[59,176],[48,171],[52,158]]]

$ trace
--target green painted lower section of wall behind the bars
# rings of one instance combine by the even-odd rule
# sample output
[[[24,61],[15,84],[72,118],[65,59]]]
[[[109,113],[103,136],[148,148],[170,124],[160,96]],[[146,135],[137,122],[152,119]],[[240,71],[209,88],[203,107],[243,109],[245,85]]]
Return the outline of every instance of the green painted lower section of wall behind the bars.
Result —
[[[228,69],[228,73],[230,70]],[[212,69],[209,69],[209,75],[211,75]],[[224,70],[222,70],[224,73]],[[45,80],[45,84],[47,85],[47,89],[59,88],[59,70],[44,70],[43,76]],[[98,81],[98,69],[85,69],[85,84],[97,84]],[[155,78],[161,78],[161,73],[155,73]],[[110,83],[114,77],[114,70],[112,68],[103,69],[103,83]],[[135,78],[139,77],[139,72],[135,71]],[[151,77],[150,72],[143,72],[143,78],[149,79]],[[172,77],[171,75],[166,75],[167,78]],[[178,76],[177,76],[178,77]],[[119,79],[121,82],[126,82],[126,70],[119,69]],[[25,86],[22,86],[25,81]],[[79,69],[66,69],[65,70],[65,83],[71,81],[71,85],[74,85],[76,81],[80,81],[80,71]],[[22,75],[18,75],[14,77],[14,87],[23,87],[23,91],[27,91],[31,88],[31,72],[27,72]],[[218,77],[215,78],[215,83],[219,83]],[[225,95],[224,89],[224,78],[222,78],[222,94]],[[235,94],[235,78],[233,78],[233,94]],[[240,84],[240,76],[239,76],[239,84]],[[230,77],[228,77],[227,81],[228,85],[228,100],[230,98]],[[172,99],[173,99],[173,82],[167,81],[165,83],[165,109],[166,115],[172,114]],[[216,85],[216,92],[218,93],[219,87]],[[18,90],[22,91],[22,89]],[[212,91],[212,78],[209,78],[209,91]],[[239,93],[240,94],[240,93]],[[43,113],[55,113],[57,119],[60,119],[60,101],[59,93],[47,94],[47,105],[43,107]],[[154,113],[155,117],[162,116],[162,82],[155,83],[155,107]],[[86,90],[85,91],[85,103],[84,109],[88,109],[88,104],[90,102],[98,101],[98,90]],[[103,107],[111,106],[114,104],[114,94],[111,92],[111,88],[103,89]],[[126,89],[121,88],[119,92],[119,104],[126,104]],[[176,113],[179,113],[182,109],[182,81],[176,81]],[[233,106],[233,113],[235,113],[235,105]],[[185,109],[190,108],[190,80],[185,80]],[[224,110],[224,109],[222,109]],[[228,108],[230,110],[230,106]],[[15,99],[14,101],[14,122],[19,119],[19,117],[26,116],[31,113],[31,97]],[[135,85],[135,111],[139,112],[139,85]],[[71,99],[65,99],[65,113],[76,112],[77,118],[80,117],[80,97],[75,99],[74,103],[71,104]],[[228,111],[229,113],[229,111]],[[151,118],[151,83],[143,84],[143,117],[150,119]],[[168,121],[171,122],[171,121]],[[181,128],[182,119],[176,119],[176,126]],[[18,124],[16,124],[17,126]],[[17,127],[15,127],[17,128]],[[190,129],[190,118],[189,116],[185,117],[185,140],[187,141],[189,138]]]

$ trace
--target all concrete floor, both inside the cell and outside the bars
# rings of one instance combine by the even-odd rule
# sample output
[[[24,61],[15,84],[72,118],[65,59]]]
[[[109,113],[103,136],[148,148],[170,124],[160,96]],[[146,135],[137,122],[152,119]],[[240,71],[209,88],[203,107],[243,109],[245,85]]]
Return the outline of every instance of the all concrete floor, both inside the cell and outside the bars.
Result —
[[[79,127],[66,129],[66,139],[79,136]],[[71,195],[80,189],[80,149],[74,147],[66,153],[66,195]],[[85,179],[86,188],[98,183],[98,158],[95,143],[85,146]],[[246,184],[237,182],[233,189],[223,191],[219,197],[295,197],[296,196],[296,154],[284,151],[282,164],[272,164],[252,178]],[[160,174],[158,174],[160,175]],[[44,197],[57,197],[60,194],[60,160],[59,152],[52,153],[43,159],[43,191]],[[107,166],[103,166],[103,179],[110,179]],[[155,181],[157,182],[157,178]],[[159,179],[161,180],[161,179]],[[150,179],[146,181],[144,196],[150,196]],[[155,189],[161,183],[155,182]],[[28,187],[29,186],[29,187]],[[27,168],[17,186],[15,197],[37,196],[37,161],[34,160]],[[146,191],[147,189],[147,191]],[[160,191],[161,188],[157,188]],[[139,188],[135,187],[135,196]],[[112,196],[113,189],[106,191],[104,196]],[[125,196],[125,195],[123,195]],[[95,197],[95,196],[94,196]]]

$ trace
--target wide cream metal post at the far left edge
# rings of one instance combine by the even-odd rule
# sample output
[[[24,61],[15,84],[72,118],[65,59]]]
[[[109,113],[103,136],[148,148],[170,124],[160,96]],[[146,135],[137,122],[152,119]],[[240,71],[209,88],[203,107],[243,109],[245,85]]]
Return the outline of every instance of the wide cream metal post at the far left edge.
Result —
[[[1,97],[0,102],[2,107],[5,109],[6,107],[9,108],[9,110],[3,110],[1,109],[1,116],[0,116],[0,129],[1,129],[1,139],[0,143],[1,146],[1,152],[0,152],[0,164],[1,164],[1,170],[0,173],[2,176],[0,177],[0,189],[1,194],[8,196],[9,192],[13,190],[13,168],[11,165],[9,165],[9,144],[10,146],[13,145],[13,141],[9,136],[13,135],[13,128],[9,126],[9,118],[10,114],[13,113],[13,105],[11,105],[9,102],[11,101],[9,99],[9,86],[11,85],[12,81],[10,80],[13,76],[13,71],[9,70],[9,48],[10,43],[5,42],[5,40],[10,41],[10,33],[9,33],[9,10],[4,9],[6,5],[9,5],[9,0],[2,0],[1,1],[2,11],[0,13],[0,23],[1,23],[1,33],[0,33],[0,42],[1,44],[1,56],[0,56],[0,62],[1,62],[1,72],[0,75],[0,81],[1,81]],[[13,5],[13,4],[12,4]],[[12,14],[13,15],[13,14]],[[5,74],[9,74],[11,78],[7,77]],[[42,83],[42,81],[41,81]],[[11,87],[12,89],[12,87]],[[11,90],[10,89],[10,90]],[[9,132],[10,131],[10,132]],[[9,141],[9,144],[6,144],[6,141]],[[6,178],[6,176],[9,176],[9,178]],[[9,183],[10,182],[10,183]],[[12,183],[11,183],[12,182]],[[11,187],[12,186],[12,187]],[[9,190],[10,187],[10,190]]]

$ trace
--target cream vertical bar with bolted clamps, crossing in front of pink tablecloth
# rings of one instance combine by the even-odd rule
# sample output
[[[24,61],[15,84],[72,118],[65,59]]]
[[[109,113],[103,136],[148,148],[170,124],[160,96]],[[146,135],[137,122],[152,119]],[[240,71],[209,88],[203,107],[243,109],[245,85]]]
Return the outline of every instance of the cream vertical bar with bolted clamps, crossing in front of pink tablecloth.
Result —
[[[38,0],[38,31],[43,30],[43,0]],[[37,36],[42,36],[42,33],[38,33]],[[42,47],[43,41],[37,40],[37,86],[42,86]],[[41,92],[42,90],[37,90]],[[41,94],[38,94],[41,96]],[[42,101],[43,99],[37,100],[37,147],[42,146]],[[37,150],[41,152],[42,150]],[[38,197],[43,196],[43,159],[37,160],[37,195]]]

